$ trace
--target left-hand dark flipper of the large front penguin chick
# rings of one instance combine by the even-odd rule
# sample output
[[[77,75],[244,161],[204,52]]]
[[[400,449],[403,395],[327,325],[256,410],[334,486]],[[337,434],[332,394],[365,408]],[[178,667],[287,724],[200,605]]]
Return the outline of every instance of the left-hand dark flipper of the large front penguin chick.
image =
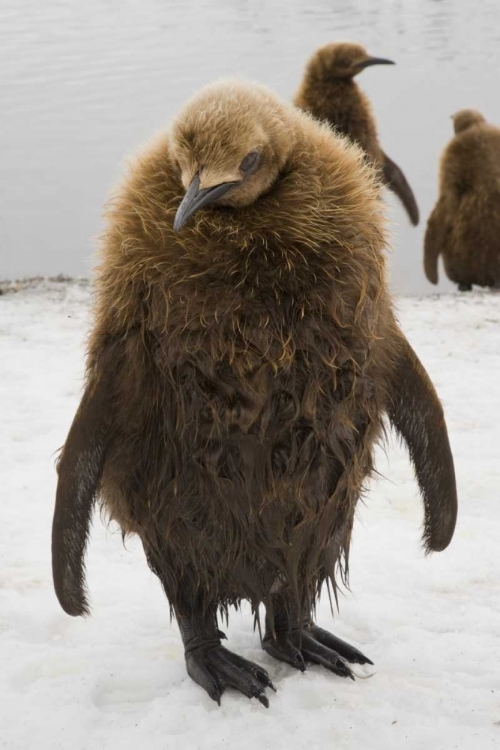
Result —
[[[85,550],[112,425],[116,351],[105,348],[93,368],[57,464],[52,523],[52,576],[61,607],[87,615]]]

